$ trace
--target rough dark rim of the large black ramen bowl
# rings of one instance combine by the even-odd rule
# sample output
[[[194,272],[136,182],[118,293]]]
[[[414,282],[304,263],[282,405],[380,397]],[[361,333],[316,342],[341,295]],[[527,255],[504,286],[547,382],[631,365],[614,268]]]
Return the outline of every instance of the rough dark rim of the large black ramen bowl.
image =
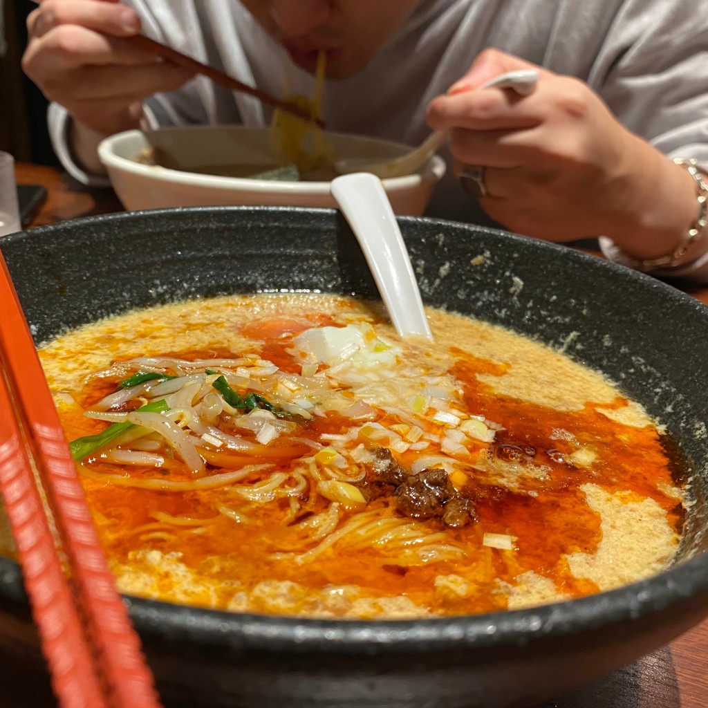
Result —
[[[280,212],[284,215],[289,212],[302,212],[328,215],[336,210],[326,207],[263,205],[165,207],[71,219],[56,225],[38,227],[31,232],[18,232],[8,238],[20,240],[30,234],[39,237],[54,234],[57,227],[67,227],[77,222],[81,222],[90,230],[92,224],[105,226],[107,222],[120,222],[122,219],[132,220],[141,216],[158,218],[161,215],[190,212]],[[397,218],[402,223],[454,223],[429,217]],[[485,234],[498,234],[506,239],[527,241],[524,236],[501,229],[475,228]],[[565,250],[559,244],[542,242],[540,245],[553,252]],[[609,268],[628,281],[644,282],[651,290],[661,291],[662,297],[667,301],[683,307],[692,307],[708,319],[708,309],[705,306],[666,282],[581,251],[571,251],[569,256],[588,264],[590,268]],[[680,561],[643,580],[583,598],[479,615],[416,619],[316,619],[211,610],[135,595],[123,595],[123,598],[136,629],[151,639],[165,641],[188,636],[195,644],[225,646],[229,649],[263,649],[267,646],[269,651],[281,653],[324,654],[335,651],[341,655],[352,656],[385,656],[401,651],[415,654],[431,650],[494,649],[524,646],[531,641],[569,636],[579,630],[595,631],[625,622],[638,622],[647,615],[670,610],[675,605],[700,604],[704,608],[701,616],[704,616],[705,608],[708,608],[708,552]],[[20,566],[15,560],[0,556],[0,607],[8,600],[20,605],[27,604]]]

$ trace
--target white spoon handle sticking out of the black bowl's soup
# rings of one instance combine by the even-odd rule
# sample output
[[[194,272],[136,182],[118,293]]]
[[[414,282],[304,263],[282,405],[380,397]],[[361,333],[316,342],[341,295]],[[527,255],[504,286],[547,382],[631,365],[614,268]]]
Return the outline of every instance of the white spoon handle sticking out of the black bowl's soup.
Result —
[[[360,172],[334,178],[330,189],[359,241],[396,331],[432,339],[411,259],[381,180]]]

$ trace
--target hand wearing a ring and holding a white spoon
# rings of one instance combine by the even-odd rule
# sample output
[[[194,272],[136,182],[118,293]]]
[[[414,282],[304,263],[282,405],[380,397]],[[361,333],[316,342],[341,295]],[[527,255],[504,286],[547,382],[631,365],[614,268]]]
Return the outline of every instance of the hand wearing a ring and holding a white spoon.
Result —
[[[493,76],[537,69],[529,96],[476,90]],[[549,241],[631,232],[646,209],[647,171],[666,157],[629,132],[582,81],[486,50],[445,96],[428,105],[434,130],[450,130],[455,171],[484,166],[484,211],[511,231]],[[673,168],[673,165],[670,165]],[[622,237],[616,239],[622,241]]]

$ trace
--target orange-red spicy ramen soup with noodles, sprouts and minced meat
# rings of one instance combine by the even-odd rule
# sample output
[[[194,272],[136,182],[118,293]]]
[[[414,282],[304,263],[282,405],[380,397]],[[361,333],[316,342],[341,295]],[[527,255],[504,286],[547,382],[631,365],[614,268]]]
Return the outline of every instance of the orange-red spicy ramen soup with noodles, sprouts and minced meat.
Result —
[[[124,593],[404,618],[661,571],[681,492],[602,376],[496,326],[257,295],[156,307],[40,351]]]

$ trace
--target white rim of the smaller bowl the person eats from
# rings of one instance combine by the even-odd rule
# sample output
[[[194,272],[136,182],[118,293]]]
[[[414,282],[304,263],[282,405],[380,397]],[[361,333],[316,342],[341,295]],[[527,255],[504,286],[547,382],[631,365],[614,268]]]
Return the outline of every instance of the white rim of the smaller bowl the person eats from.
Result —
[[[249,131],[263,132],[267,127],[246,127],[244,125],[171,125],[161,127],[158,130],[170,132],[208,132],[209,130],[233,130],[234,132]],[[98,158],[103,166],[110,170],[120,170],[135,176],[149,178],[161,183],[174,185],[187,185],[198,188],[212,188],[229,191],[243,191],[249,193],[270,193],[270,194],[302,194],[302,195],[329,195],[331,181],[276,181],[259,180],[246,177],[226,177],[219,175],[208,175],[198,172],[187,172],[174,170],[169,167],[159,165],[147,165],[122,157],[116,154],[115,149],[123,142],[130,139],[141,139],[144,135],[142,130],[124,130],[122,132],[109,135],[98,144]],[[329,132],[328,135],[334,137],[364,139],[373,143],[389,144],[395,147],[411,149],[411,146],[404,143],[387,140],[384,138],[370,137],[367,135],[355,135],[353,133]],[[142,138],[144,139],[144,138]],[[438,182],[445,176],[447,163],[439,154],[433,155],[428,162],[418,171],[404,175],[383,179],[384,189],[388,192],[398,192],[415,189],[418,186]],[[157,177],[157,178],[156,178]]]

